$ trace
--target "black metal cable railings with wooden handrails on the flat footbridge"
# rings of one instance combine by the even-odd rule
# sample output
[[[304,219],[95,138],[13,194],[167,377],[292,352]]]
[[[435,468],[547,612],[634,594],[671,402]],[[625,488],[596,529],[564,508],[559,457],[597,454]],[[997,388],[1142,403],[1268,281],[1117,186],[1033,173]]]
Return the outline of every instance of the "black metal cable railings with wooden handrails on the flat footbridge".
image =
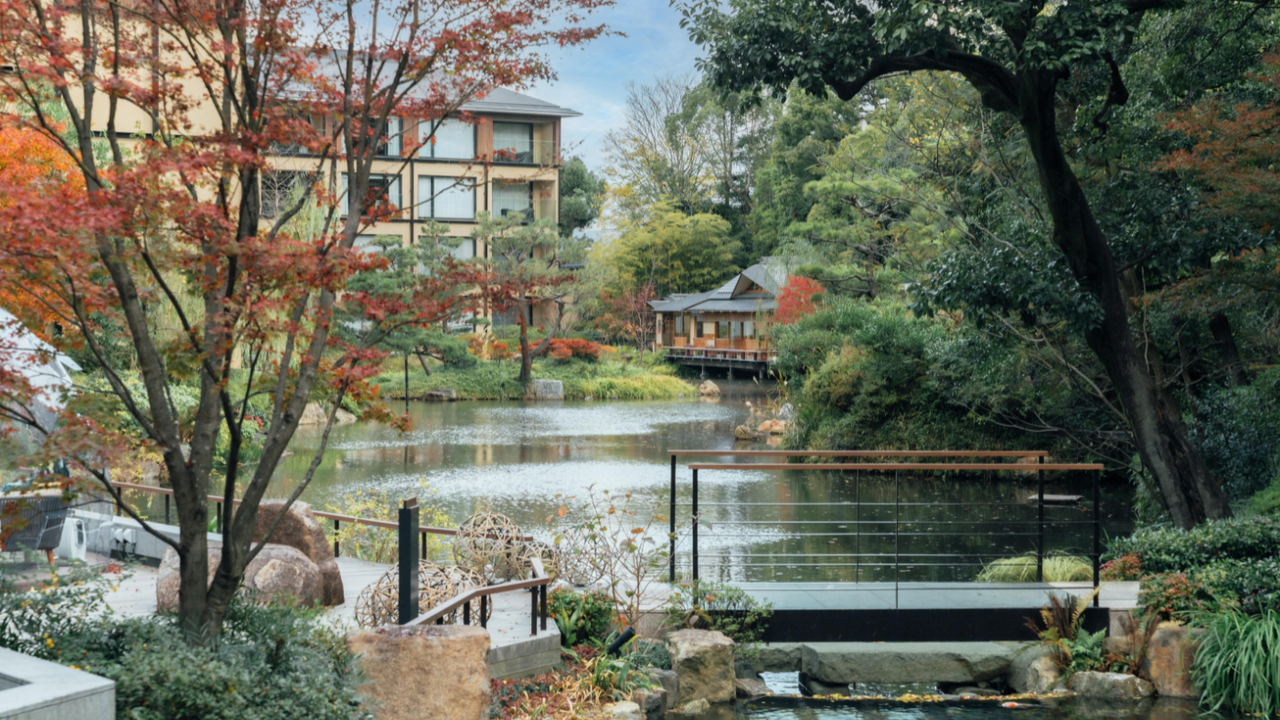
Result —
[[[677,462],[680,457],[691,456],[745,456],[745,457],[823,457],[823,459],[969,459],[969,460],[983,460],[983,459],[1028,459],[1034,460],[1034,464],[1021,464],[1021,462],[922,462],[922,461],[902,461],[902,462],[822,462],[822,464],[796,464],[796,462],[754,462],[754,464],[741,464],[741,462],[690,462],[689,469],[692,474],[692,483],[690,487],[690,498],[687,507],[690,509],[690,518],[692,520],[691,530],[689,537],[691,539],[690,547],[690,571],[694,579],[699,577],[700,561],[705,560],[708,556],[700,556],[699,548],[699,527],[707,524],[710,527],[714,521],[716,528],[730,527],[730,528],[745,528],[745,533],[740,533],[744,537],[762,537],[762,530],[769,525],[783,528],[781,536],[785,539],[792,538],[828,538],[828,542],[836,544],[837,542],[845,544],[852,544],[851,548],[840,552],[823,552],[823,553],[772,553],[769,557],[763,559],[764,561],[756,561],[760,559],[749,557],[746,561],[741,556],[736,557],[735,566],[760,566],[760,568],[774,568],[774,566],[787,566],[787,568],[801,568],[813,566],[819,569],[837,569],[842,573],[849,573],[852,570],[851,575],[854,583],[860,583],[863,578],[863,569],[884,569],[892,568],[892,582],[895,587],[900,582],[901,571],[904,566],[914,570],[916,568],[934,569],[934,568],[963,568],[963,566],[986,566],[989,561],[996,559],[1012,557],[1016,555],[1010,555],[1009,552],[922,552],[916,550],[918,546],[923,544],[919,542],[922,538],[954,538],[954,537],[968,537],[968,538],[982,538],[982,537],[1002,537],[1002,538],[1034,538],[1034,557],[1036,557],[1036,580],[1043,582],[1044,578],[1044,559],[1048,553],[1046,544],[1046,528],[1071,528],[1071,527],[1091,527],[1092,528],[1092,548],[1088,551],[1088,556],[1092,565],[1093,585],[1097,587],[1100,582],[1100,559],[1101,559],[1101,501],[1100,501],[1100,475],[1102,465],[1097,464],[1062,464],[1062,462],[1046,462],[1047,454],[1044,451],[783,451],[783,450],[755,450],[755,451],[703,451],[703,450],[672,450],[671,456],[671,560],[669,560],[669,577],[671,580],[676,580],[676,559],[677,559],[677,536],[676,536],[676,518],[678,515],[677,509]],[[767,505],[771,507],[790,509],[790,507],[836,507],[846,510],[852,516],[840,516],[833,520],[813,520],[813,519],[781,519],[781,520],[742,520],[742,519],[724,519],[724,518],[708,518],[708,506],[735,506],[741,507],[744,502],[705,502],[699,498],[699,471],[708,470],[836,470],[836,471],[855,471],[855,487],[854,487],[854,500],[851,502],[769,502],[769,503],[755,503]],[[904,501],[900,492],[900,475],[904,471],[951,471],[951,473],[1036,473],[1037,475],[1037,492],[1034,496],[1027,498],[1028,502],[1034,503],[1034,519],[1030,520],[1007,520],[1007,519],[956,519],[955,509],[966,507],[983,507],[983,509],[1000,509],[1010,506],[1027,507],[1028,502],[993,502],[991,498],[983,502],[913,502]],[[864,502],[861,497],[863,489],[863,473],[874,473],[877,478],[884,479],[887,484],[887,474],[892,473],[892,502]],[[1046,496],[1044,493],[1044,480],[1046,471],[1088,471],[1092,478],[1092,516],[1089,519],[1060,519],[1060,518],[1046,518],[1046,507],[1050,501],[1061,501],[1057,496]],[[1074,500],[1083,500],[1078,496],[1071,496]],[[864,519],[863,509],[869,507],[879,510],[879,514],[887,515],[888,509],[892,509],[890,518],[877,518],[877,519]],[[943,507],[948,509],[947,512],[951,514],[947,519],[919,519],[913,516],[904,518],[904,509],[906,510],[920,510],[927,507]],[[1055,505],[1055,507],[1062,507]],[[1079,507],[1076,505],[1075,507]],[[1001,528],[1000,532],[984,533],[978,532],[980,527],[989,525],[993,523],[1001,523],[1006,525]],[[841,532],[823,532],[820,528],[829,525],[837,525]],[[854,532],[847,532],[852,527]],[[937,530],[937,528],[947,528],[945,532]],[[799,528],[799,530],[796,529]],[[869,529],[868,529],[869,528]],[[1029,528],[1030,532],[1023,532],[1024,528]],[[818,529],[818,532],[812,532],[812,529]],[[717,533],[723,534],[723,533]],[[730,537],[730,536],[726,536]],[[847,538],[852,538],[849,542]],[[867,552],[864,551],[864,539],[874,541],[877,543],[887,544],[887,541],[892,541],[892,552],[887,548],[881,548],[879,552]],[[902,543],[908,541],[909,547],[904,548]],[[927,541],[928,542],[928,541]],[[915,547],[913,547],[915,546]],[[838,546],[833,550],[841,550]],[[721,556],[713,556],[721,557]],[[819,560],[817,562],[806,562],[804,560]],[[1094,605],[1097,605],[1097,597],[1094,598]]]

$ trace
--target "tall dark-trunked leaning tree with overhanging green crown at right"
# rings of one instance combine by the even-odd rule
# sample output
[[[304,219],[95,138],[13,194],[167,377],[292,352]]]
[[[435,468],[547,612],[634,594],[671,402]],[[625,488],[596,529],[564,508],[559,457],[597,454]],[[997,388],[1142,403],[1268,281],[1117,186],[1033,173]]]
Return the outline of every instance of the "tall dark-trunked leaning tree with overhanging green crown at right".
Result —
[[[797,82],[854,99],[868,83],[896,73],[950,72],[983,104],[1021,129],[1048,210],[1053,245],[1093,306],[1085,341],[1106,368],[1143,465],[1179,527],[1230,515],[1204,459],[1188,441],[1178,407],[1157,387],[1130,328],[1132,284],[1102,232],[1060,137],[1061,94],[1091,92],[1094,120],[1129,100],[1116,58],[1137,27],[1176,0],[970,0],[936,4],[859,0],[682,4],[691,36],[709,49],[704,69],[727,91],[782,90]],[[1263,3],[1217,3],[1252,12]],[[1080,79],[1076,79],[1080,78]],[[1071,81],[1071,86],[1065,82]],[[1082,82],[1083,81],[1083,82]],[[1092,82],[1091,82],[1092,81]]]

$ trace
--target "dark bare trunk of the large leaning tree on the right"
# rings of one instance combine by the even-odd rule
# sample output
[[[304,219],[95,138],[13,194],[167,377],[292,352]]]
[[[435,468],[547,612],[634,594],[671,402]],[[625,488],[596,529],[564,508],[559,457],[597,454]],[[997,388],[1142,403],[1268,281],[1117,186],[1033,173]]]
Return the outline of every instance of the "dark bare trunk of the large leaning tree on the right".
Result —
[[[1231,509],[1221,484],[1187,439],[1178,407],[1156,386],[1133,340],[1130,299],[1121,291],[1111,247],[1057,137],[1056,82],[1050,70],[1025,70],[1019,88],[1020,122],[1053,219],[1053,242],[1066,256],[1075,279],[1102,309],[1101,322],[1085,332],[1085,342],[1115,386],[1138,455],[1160,486],[1174,523],[1190,528],[1208,519],[1229,518]]]

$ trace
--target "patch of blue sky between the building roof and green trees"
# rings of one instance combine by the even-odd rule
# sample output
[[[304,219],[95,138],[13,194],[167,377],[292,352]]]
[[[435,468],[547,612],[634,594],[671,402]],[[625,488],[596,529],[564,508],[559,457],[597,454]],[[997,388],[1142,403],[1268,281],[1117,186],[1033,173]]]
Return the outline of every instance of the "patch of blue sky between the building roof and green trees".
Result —
[[[689,41],[667,0],[618,0],[595,17],[627,36],[596,40],[558,58],[553,54],[559,79],[525,92],[582,113],[564,120],[563,146],[598,172],[604,167],[604,135],[622,122],[626,82],[643,85],[664,74],[691,73],[699,47]]]

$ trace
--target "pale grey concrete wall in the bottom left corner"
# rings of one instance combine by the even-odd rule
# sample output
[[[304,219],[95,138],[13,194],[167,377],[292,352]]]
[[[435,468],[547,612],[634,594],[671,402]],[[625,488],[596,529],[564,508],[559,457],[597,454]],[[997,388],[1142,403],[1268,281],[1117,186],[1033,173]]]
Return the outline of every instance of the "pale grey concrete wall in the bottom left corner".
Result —
[[[114,717],[114,682],[0,648],[0,720]]]

